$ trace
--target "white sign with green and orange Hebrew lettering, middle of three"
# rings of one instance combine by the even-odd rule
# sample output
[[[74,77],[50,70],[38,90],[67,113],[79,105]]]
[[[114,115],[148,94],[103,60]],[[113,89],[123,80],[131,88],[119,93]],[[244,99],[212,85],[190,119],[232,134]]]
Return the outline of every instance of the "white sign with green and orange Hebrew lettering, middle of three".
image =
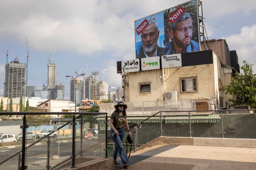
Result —
[[[141,70],[160,69],[160,57],[148,57],[141,59]]]

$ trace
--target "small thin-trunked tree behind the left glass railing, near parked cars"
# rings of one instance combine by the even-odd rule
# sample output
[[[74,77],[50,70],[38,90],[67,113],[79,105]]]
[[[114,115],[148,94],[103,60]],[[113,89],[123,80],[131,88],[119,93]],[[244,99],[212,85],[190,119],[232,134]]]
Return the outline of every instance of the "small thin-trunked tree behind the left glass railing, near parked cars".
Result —
[[[36,128],[43,123],[46,123],[51,118],[50,115],[26,115],[28,124],[35,127],[35,141],[36,141]]]

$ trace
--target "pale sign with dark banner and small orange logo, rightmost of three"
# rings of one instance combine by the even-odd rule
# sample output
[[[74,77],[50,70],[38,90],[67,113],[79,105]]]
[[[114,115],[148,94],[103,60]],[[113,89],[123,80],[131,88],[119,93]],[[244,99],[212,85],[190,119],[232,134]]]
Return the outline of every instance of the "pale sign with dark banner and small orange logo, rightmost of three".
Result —
[[[162,68],[181,67],[181,54],[163,55],[161,57]]]

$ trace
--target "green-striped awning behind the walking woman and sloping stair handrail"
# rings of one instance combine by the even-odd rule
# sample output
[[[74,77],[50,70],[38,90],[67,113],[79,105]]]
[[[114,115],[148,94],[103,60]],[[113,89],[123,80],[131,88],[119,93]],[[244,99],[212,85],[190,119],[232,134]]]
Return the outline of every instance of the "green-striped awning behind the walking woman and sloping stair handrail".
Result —
[[[128,116],[127,121],[128,123],[136,123],[141,122],[148,118],[148,116]],[[164,118],[162,118],[163,120]],[[96,117],[96,123],[104,123],[106,120],[105,117]],[[108,121],[110,120],[110,117],[108,117]],[[144,121],[145,123],[160,123],[160,116],[154,116],[150,117],[148,120]]]

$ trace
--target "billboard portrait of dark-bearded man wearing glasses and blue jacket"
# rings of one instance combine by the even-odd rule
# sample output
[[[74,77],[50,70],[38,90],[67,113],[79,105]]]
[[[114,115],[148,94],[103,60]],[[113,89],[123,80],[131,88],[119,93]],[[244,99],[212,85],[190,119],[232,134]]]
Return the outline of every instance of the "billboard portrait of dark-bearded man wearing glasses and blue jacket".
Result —
[[[192,36],[192,17],[185,12],[170,25],[171,41],[165,45],[166,55],[198,51],[199,43],[192,40]]]

